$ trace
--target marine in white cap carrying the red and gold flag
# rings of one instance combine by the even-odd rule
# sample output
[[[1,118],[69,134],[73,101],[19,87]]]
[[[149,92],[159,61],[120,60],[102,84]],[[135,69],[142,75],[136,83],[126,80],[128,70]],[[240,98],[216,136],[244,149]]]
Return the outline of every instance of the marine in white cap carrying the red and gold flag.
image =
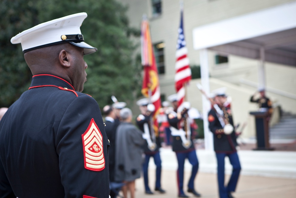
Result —
[[[147,110],[147,106],[149,104],[149,100],[147,98],[137,101],[137,104],[139,105],[142,114],[140,114],[137,117],[136,123],[139,126],[139,129],[141,129],[141,131],[143,132],[144,139],[147,140],[147,141],[145,141],[145,143],[143,145],[143,149],[144,149],[144,153],[145,153],[145,161],[143,164],[145,193],[146,194],[153,194],[153,192],[150,190],[150,188],[148,186],[148,164],[149,164],[149,159],[151,157],[153,157],[154,163],[156,165],[155,191],[159,191],[160,193],[165,193],[165,190],[163,190],[161,188],[161,184],[160,184],[160,181],[161,181],[161,159],[160,159],[159,148],[161,147],[161,141],[160,141],[159,136],[155,137],[155,142],[153,142],[152,137],[151,137],[151,123],[150,123],[151,117],[150,117],[150,115],[154,110],[149,111],[149,108]],[[150,105],[153,105],[153,104],[149,104],[149,106]],[[152,107],[152,106],[150,106],[150,107]],[[147,127],[145,127],[145,125]],[[150,134],[149,137],[145,136],[145,130],[147,130],[147,132]],[[149,147],[149,145],[148,145],[149,140],[148,139],[150,139],[152,143],[155,143],[155,144],[153,144],[153,146],[154,146],[153,149],[151,149],[151,147]]]

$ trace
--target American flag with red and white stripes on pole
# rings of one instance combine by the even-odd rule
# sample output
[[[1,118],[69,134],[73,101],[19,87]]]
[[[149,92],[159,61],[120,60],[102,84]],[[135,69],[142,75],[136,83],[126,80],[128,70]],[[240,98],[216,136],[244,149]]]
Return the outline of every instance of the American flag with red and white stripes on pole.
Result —
[[[187,57],[187,47],[184,37],[183,29],[183,9],[181,8],[181,22],[178,28],[178,40],[176,51],[176,74],[175,74],[175,88],[178,97],[178,106],[184,102],[185,98],[185,86],[191,80],[191,69],[189,66],[189,58]]]

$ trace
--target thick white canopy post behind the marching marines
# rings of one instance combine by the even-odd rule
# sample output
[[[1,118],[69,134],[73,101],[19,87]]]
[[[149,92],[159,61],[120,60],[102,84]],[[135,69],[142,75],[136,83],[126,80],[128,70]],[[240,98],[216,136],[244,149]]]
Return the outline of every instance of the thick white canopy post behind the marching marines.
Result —
[[[200,74],[202,87],[206,94],[210,93],[210,80],[209,80],[209,60],[207,55],[207,49],[200,50]],[[209,130],[209,121],[207,114],[210,111],[211,104],[207,98],[202,95],[202,115],[205,133],[205,150],[214,150],[213,134]]]

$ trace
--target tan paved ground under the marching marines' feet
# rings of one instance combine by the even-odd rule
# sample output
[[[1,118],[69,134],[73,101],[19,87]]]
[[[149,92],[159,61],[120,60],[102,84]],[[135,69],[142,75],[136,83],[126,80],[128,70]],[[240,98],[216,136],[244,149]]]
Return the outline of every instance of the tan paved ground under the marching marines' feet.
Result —
[[[155,171],[149,171],[149,184],[152,189],[155,181]],[[189,172],[184,175],[184,181],[188,181]],[[226,179],[228,179],[227,177]],[[202,197],[218,198],[218,185],[216,174],[198,173],[195,179],[195,189],[202,194]],[[178,197],[176,171],[164,170],[162,172],[162,186],[166,194],[155,193],[154,195],[144,194],[143,178],[136,180],[136,198],[171,198]],[[187,186],[184,187],[187,190]],[[194,197],[187,193],[188,196]],[[296,179],[268,178],[241,175],[237,190],[233,193],[235,198],[295,198]]]

